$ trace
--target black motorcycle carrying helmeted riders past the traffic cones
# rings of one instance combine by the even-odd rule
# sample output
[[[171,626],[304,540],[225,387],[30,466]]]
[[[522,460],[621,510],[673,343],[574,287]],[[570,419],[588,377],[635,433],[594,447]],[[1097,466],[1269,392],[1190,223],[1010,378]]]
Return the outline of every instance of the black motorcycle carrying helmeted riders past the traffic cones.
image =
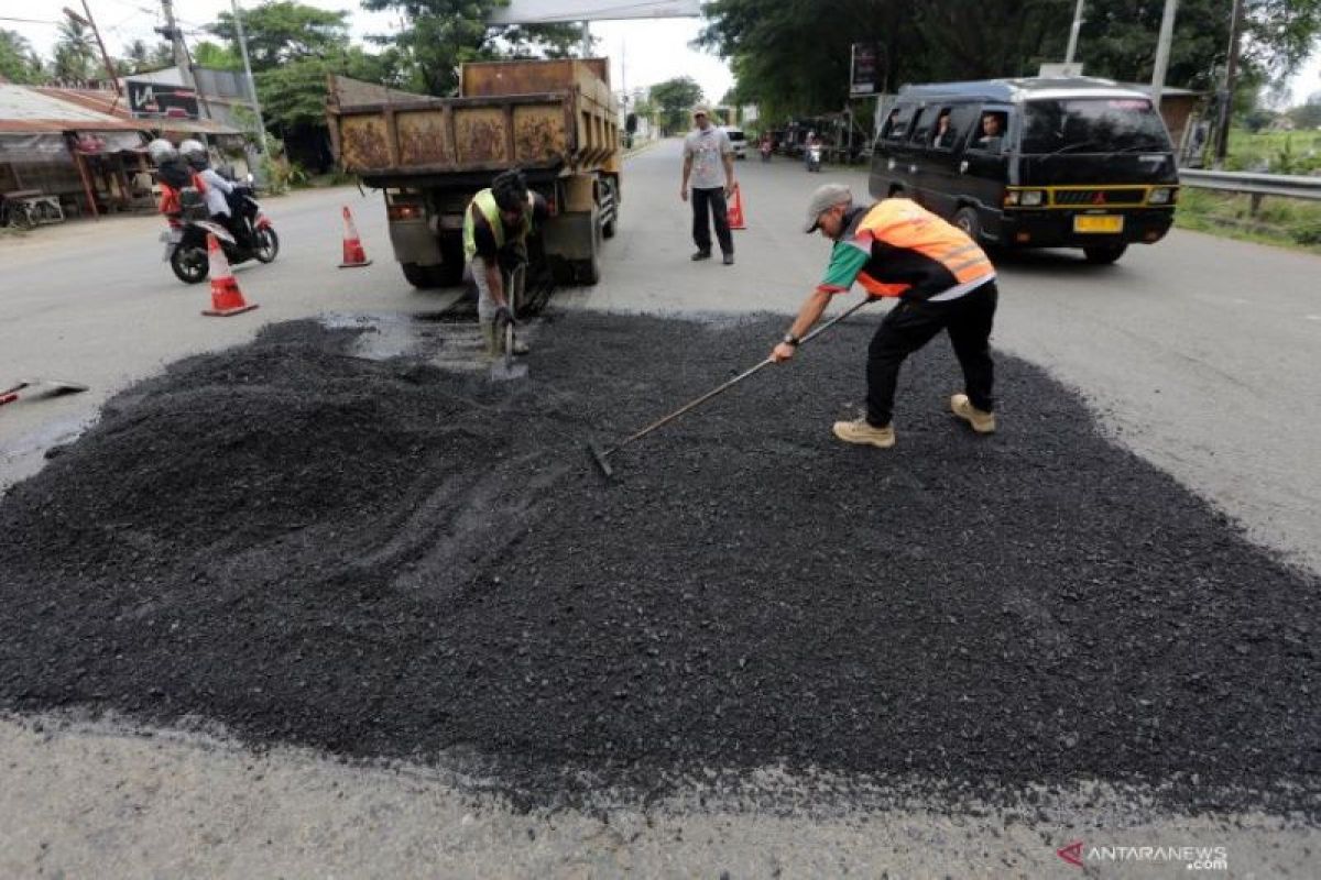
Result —
[[[248,260],[272,263],[280,253],[280,236],[252,198],[251,187],[236,186],[229,201],[236,235],[210,219],[202,194],[193,187],[185,187],[180,193],[181,211],[166,215],[169,230],[161,232],[160,240],[165,243],[161,261],[169,263],[174,277],[184,284],[199,284],[210,273],[207,235],[214,235],[221,243],[230,265]]]

